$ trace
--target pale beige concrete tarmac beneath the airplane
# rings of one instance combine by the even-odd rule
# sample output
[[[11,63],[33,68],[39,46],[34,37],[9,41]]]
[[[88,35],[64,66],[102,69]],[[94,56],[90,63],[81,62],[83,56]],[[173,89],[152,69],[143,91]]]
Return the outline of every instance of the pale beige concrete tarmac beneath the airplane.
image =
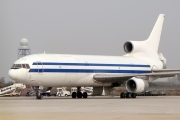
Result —
[[[0,97],[0,120],[180,120],[180,96]]]

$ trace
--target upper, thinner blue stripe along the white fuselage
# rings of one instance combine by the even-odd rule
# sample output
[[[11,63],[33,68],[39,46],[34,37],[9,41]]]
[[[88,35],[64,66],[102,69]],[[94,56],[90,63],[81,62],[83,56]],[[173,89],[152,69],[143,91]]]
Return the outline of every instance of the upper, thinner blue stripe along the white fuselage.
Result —
[[[58,62],[34,62],[33,65],[150,67],[150,65],[145,65],[145,64],[58,63]]]

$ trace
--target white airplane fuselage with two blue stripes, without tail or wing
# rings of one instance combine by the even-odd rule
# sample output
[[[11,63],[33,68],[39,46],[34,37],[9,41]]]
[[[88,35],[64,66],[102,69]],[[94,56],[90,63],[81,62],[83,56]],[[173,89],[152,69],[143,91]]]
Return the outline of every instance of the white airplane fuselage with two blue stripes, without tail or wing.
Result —
[[[92,56],[63,54],[34,54],[15,63],[30,68],[10,69],[12,79],[31,86],[111,86],[93,79],[95,74],[150,73],[153,65],[130,56]]]

